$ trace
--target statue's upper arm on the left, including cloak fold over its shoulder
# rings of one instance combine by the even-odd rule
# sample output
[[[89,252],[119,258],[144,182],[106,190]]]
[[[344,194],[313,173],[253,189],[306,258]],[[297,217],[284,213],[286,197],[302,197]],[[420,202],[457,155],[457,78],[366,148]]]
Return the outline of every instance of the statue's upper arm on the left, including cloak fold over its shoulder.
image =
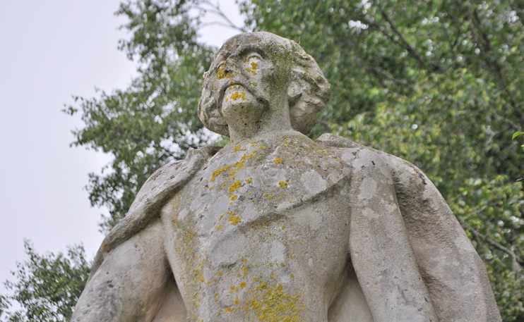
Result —
[[[163,166],[144,183],[126,217],[102,242],[71,321],[186,320],[159,211],[219,149],[191,149],[185,160]]]

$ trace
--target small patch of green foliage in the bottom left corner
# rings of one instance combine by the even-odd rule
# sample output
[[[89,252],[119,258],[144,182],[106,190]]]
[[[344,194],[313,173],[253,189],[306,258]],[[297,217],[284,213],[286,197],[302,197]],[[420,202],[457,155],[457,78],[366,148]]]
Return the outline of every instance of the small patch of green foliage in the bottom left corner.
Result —
[[[24,247],[29,259],[16,264],[17,282],[5,283],[13,295],[0,295],[1,321],[69,321],[90,272],[83,246],[68,247],[67,255],[37,254],[28,240]],[[22,309],[8,311],[13,301]]]

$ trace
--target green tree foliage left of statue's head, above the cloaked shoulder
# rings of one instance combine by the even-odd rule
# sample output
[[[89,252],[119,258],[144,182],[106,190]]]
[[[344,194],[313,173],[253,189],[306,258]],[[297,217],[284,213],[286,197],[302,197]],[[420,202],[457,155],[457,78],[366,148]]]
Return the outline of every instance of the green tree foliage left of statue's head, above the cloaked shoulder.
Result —
[[[125,216],[143,182],[160,166],[183,159],[191,147],[209,141],[196,106],[202,74],[213,58],[210,47],[197,41],[198,20],[189,16],[189,1],[147,0],[121,4],[117,15],[131,38],[120,42],[129,58],[141,63],[126,90],[100,98],[75,97],[85,128],[73,131],[72,145],[114,157],[102,175],[90,173],[92,206],[107,206],[100,224],[109,231]],[[68,106],[66,113],[78,112]]]

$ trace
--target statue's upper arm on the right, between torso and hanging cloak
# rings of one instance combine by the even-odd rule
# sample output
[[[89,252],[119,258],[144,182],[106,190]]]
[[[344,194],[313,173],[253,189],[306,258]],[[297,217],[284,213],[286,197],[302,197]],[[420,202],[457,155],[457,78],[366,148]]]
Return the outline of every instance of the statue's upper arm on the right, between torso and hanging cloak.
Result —
[[[352,160],[350,253],[374,321],[438,321],[388,166],[374,151],[357,151]]]

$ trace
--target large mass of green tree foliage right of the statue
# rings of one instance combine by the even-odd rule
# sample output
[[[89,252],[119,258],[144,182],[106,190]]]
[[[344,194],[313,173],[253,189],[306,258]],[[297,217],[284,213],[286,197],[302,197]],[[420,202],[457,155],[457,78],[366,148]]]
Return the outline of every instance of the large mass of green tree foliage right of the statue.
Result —
[[[321,127],[400,156],[439,188],[487,264],[504,321],[524,318],[521,1],[254,0],[247,23],[300,42],[333,97]],[[516,143],[516,142],[515,142]]]

